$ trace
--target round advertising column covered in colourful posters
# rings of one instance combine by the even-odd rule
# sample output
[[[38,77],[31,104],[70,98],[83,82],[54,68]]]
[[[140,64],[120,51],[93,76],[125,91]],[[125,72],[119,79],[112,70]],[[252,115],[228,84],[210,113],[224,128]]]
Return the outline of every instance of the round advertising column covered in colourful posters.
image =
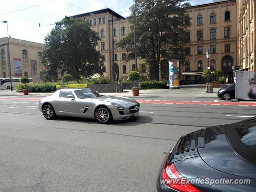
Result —
[[[170,89],[180,89],[180,62],[169,61]]]

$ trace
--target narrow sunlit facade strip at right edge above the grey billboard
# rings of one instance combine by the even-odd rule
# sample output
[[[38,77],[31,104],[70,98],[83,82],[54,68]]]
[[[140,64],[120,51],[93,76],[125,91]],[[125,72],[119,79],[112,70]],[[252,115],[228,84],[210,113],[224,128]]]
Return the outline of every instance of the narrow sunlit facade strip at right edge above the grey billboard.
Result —
[[[256,0],[240,0],[237,5],[237,63],[241,69],[255,71]]]

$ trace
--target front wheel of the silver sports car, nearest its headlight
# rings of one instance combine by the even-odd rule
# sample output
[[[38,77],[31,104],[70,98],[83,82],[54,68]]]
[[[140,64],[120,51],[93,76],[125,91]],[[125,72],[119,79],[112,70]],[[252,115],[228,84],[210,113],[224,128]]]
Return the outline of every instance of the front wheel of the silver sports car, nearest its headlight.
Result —
[[[107,124],[112,121],[112,114],[109,108],[100,106],[94,112],[95,119],[101,124]]]

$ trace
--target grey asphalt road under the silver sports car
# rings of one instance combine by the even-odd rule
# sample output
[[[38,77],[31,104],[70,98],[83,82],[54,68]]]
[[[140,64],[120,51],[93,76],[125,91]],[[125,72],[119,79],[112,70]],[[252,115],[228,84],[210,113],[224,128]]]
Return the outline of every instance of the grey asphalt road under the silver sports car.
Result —
[[[180,136],[256,110],[256,103],[213,99],[145,100],[137,118],[102,125],[46,120],[38,100],[0,97],[0,192],[153,192],[160,164]]]

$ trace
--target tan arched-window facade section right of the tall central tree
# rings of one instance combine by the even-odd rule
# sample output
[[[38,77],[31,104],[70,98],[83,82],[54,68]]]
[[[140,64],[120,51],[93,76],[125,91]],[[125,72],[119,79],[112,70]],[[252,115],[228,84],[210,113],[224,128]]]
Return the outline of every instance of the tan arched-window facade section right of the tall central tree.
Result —
[[[186,47],[186,64],[180,69],[182,80],[203,82],[202,72],[221,69],[233,82],[232,66],[236,60],[236,1],[228,0],[191,6],[186,9],[190,20],[186,28],[190,31],[190,42]],[[209,64],[206,52],[211,53]]]

